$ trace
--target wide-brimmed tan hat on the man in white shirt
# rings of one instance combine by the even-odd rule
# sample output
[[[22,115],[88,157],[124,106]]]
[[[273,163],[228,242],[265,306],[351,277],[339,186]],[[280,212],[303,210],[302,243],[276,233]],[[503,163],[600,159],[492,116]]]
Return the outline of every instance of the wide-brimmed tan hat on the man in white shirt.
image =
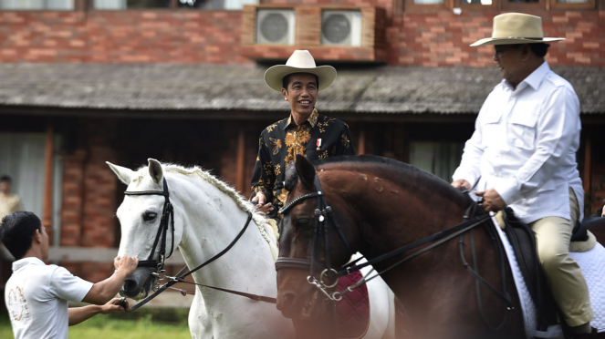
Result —
[[[481,39],[471,46],[537,44],[565,40],[562,37],[544,37],[542,18],[522,13],[506,13],[494,17],[492,37]]]

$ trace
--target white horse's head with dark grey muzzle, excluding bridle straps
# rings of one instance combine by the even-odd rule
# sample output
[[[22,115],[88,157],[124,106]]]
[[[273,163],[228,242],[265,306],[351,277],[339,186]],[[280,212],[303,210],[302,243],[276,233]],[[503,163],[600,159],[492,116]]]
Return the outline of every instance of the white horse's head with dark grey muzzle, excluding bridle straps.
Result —
[[[155,251],[151,255],[151,249],[158,236],[160,221],[162,220],[162,211],[165,198],[161,194],[163,191],[162,164],[156,159],[149,159],[148,169],[139,171],[129,170],[108,162],[118,178],[128,185],[128,192],[158,191],[158,194],[150,195],[127,195],[118,208],[117,216],[121,226],[120,251],[118,255],[128,255],[139,258],[140,261],[156,260],[160,258],[160,242],[155,246]],[[148,170],[148,171],[147,171]],[[148,172],[148,173],[147,173]],[[148,175],[149,174],[149,175]],[[173,201],[171,196],[171,202]],[[178,213],[174,213],[176,216]],[[168,216],[166,216],[168,217]],[[174,239],[172,239],[172,229],[166,231],[166,256],[178,247],[183,237],[183,228],[177,227],[180,222],[174,221]],[[135,272],[124,281],[120,295],[133,298],[135,300],[146,297],[155,282],[155,277],[151,275],[156,272],[157,267],[151,265],[139,265]]]

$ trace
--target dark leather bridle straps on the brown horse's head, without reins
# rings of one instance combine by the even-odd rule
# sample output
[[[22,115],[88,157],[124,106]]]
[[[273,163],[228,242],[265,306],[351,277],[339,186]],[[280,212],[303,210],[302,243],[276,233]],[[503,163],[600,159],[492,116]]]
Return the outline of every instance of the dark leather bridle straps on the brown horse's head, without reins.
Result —
[[[340,228],[339,222],[336,220],[334,211],[332,211],[332,208],[329,207],[328,202],[326,201],[324,192],[321,189],[321,184],[319,183],[319,178],[318,178],[317,173],[315,174],[314,181],[315,181],[315,187],[316,187],[317,191],[299,195],[295,199],[290,201],[286,206],[284,206],[282,209],[279,210],[279,213],[285,216],[288,211],[292,210],[292,208],[294,208],[301,201],[308,200],[311,198],[318,198],[318,204],[315,209],[315,222],[314,222],[314,226],[313,226],[313,242],[311,245],[312,246],[311,247],[311,259],[308,260],[308,259],[284,258],[284,257],[277,258],[276,270],[279,271],[280,269],[285,269],[285,268],[290,268],[290,269],[307,269],[307,268],[309,268],[309,275],[307,277],[308,282],[311,284],[317,285],[321,291],[323,291],[324,293],[327,293],[324,290],[325,288],[334,288],[334,287],[336,287],[336,284],[338,283],[338,279],[335,279],[335,282],[332,284],[329,284],[329,283],[323,281],[324,277],[329,272],[332,272],[334,274],[338,273],[336,270],[334,270],[331,267],[331,259],[330,259],[330,252],[329,252],[329,223],[330,222],[327,222],[327,219],[328,219],[328,221],[331,221],[331,223],[334,224],[334,227],[339,232],[340,239],[342,239],[342,241],[347,246],[347,251],[351,254],[352,254],[352,252],[351,252],[351,249],[349,246],[349,241],[347,241],[347,238],[344,236],[344,233],[342,232],[342,229]],[[320,237],[321,237],[322,233],[323,233],[325,241],[326,241],[326,265],[325,266],[322,263],[318,262],[319,252],[321,251],[321,238]],[[317,280],[314,276],[314,274],[316,272],[318,272],[318,270],[316,270],[316,267],[321,270],[321,273],[319,275],[319,280]]]

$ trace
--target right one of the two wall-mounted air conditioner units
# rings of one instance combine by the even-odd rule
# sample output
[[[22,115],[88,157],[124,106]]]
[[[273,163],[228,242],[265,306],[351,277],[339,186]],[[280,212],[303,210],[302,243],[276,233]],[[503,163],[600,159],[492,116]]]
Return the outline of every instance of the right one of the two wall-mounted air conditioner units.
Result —
[[[321,45],[361,46],[361,12],[323,11],[321,14]]]

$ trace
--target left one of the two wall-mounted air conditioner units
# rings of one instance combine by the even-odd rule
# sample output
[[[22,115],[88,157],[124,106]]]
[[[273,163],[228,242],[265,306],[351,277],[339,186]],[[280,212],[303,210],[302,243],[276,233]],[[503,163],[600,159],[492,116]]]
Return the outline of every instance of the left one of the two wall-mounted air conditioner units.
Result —
[[[258,9],[256,44],[294,45],[294,9]]]

